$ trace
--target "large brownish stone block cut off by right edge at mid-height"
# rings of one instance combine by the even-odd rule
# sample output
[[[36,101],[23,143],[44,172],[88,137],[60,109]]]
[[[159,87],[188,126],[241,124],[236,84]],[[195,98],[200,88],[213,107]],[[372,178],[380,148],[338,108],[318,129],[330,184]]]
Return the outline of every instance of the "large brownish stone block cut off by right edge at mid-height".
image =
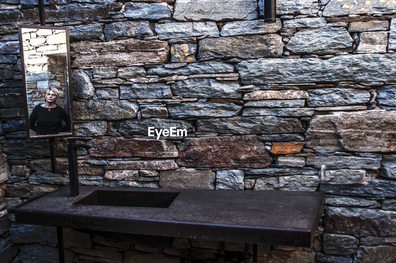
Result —
[[[307,146],[315,150],[396,151],[396,112],[341,112],[315,116],[307,130]]]

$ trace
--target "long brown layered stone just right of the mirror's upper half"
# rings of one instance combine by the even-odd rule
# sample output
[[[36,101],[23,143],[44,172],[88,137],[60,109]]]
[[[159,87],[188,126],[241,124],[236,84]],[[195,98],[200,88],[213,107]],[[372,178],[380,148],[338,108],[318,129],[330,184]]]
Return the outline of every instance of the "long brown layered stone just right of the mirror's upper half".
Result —
[[[72,67],[110,67],[133,63],[166,63],[168,43],[160,40],[122,39],[70,44]]]

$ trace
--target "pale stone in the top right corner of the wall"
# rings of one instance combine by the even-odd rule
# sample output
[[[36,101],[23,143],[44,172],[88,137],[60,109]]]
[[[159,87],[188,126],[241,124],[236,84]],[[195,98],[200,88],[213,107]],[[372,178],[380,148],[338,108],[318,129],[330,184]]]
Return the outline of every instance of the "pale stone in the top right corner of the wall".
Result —
[[[323,10],[323,16],[344,16],[352,14],[388,14],[396,12],[396,3],[394,1],[354,1],[344,0],[339,2],[337,0],[330,0]]]

